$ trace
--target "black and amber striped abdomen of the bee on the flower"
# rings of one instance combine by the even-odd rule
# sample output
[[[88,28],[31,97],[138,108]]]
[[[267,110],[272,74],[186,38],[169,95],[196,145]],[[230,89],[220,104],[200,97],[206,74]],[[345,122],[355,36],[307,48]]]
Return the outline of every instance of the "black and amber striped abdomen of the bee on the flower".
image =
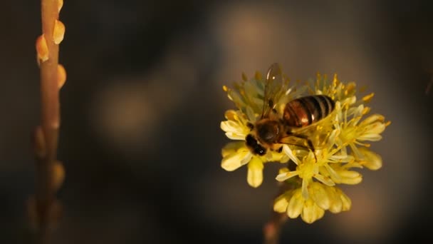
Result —
[[[283,118],[288,126],[304,127],[325,118],[334,108],[335,102],[329,96],[304,96],[286,104]]]

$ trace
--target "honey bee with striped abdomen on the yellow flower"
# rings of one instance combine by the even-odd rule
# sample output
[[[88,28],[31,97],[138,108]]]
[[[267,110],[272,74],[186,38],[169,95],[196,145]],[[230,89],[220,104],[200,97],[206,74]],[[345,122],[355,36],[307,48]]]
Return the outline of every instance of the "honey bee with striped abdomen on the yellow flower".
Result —
[[[315,148],[310,138],[296,131],[332,113],[335,101],[325,95],[303,96],[286,103],[283,114],[280,116],[276,110],[276,104],[288,88],[283,82],[278,63],[273,63],[268,69],[265,82],[261,118],[255,124],[249,123],[251,133],[245,138],[246,146],[252,153],[260,156],[264,156],[268,150],[281,152],[281,144],[300,146],[314,153]],[[291,140],[293,138],[301,139],[304,143],[294,143]]]

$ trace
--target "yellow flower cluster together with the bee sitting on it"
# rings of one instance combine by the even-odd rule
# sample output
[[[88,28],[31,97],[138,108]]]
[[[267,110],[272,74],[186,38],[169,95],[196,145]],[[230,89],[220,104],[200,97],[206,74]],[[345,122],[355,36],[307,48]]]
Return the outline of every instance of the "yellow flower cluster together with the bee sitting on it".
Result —
[[[222,148],[221,167],[248,168],[247,182],[261,185],[264,166],[281,164],[276,181],[281,195],[273,210],[313,223],[325,214],[350,210],[352,202],[338,185],[362,181],[360,168],[377,170],[382,158],[370,150],[390,124],[370,113],[374,93],[357,94],[354,82],[337,75],[328,81],[291,85],[274,63],[266,75],[242,75],[233,88],[223,86],[235,110],[225,113],[221,129],[233,140]]]

